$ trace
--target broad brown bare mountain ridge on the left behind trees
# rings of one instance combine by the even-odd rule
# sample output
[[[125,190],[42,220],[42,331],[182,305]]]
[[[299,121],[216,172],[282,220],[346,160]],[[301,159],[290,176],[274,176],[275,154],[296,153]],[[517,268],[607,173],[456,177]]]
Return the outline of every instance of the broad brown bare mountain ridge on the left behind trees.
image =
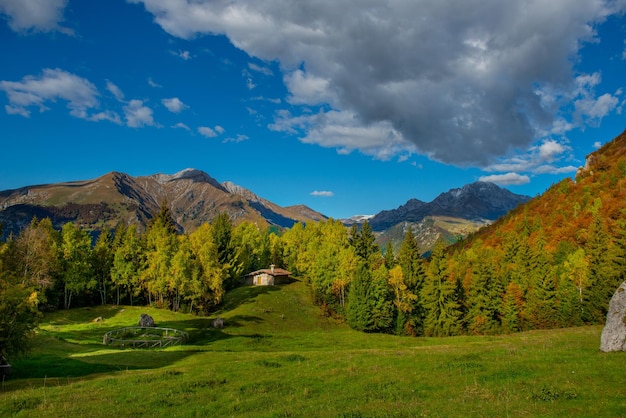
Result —
[[[59,227],[72,221],[89,229],[118,223],[145,227],[167,202],[179,230],[193,231],[218,213],[234,222],[290,227],[326,217],[305,206],[281,207],[231,182],[219,183],[200,170],[132,177],[112,172],[93,180],[23,187],[0,192],[4,234],[18,232],[33,216]]]

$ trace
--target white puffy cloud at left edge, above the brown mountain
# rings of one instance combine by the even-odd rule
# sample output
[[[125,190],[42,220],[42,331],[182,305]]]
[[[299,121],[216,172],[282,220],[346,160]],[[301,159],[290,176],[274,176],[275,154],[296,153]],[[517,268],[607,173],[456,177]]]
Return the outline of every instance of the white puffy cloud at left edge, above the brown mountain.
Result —
[[[57,100],[67,102],[72,116],[90,119],[88,110],[99,106],[98,90],[88,80],[60,69],[45,69],[39,76],[28,75],[21,81],[0,81],[9,99],[7,113],[30,115],[30,108],[48,110]]]

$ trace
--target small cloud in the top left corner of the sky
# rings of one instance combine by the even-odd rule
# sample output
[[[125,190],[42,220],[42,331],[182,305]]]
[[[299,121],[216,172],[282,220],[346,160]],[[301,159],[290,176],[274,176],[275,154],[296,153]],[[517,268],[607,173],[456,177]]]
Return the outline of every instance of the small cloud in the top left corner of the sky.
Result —
[[[21,31],[60,31],[71,34],[62,27],[67,0],[0,0],[0,14],[8,16],[9,27]]]

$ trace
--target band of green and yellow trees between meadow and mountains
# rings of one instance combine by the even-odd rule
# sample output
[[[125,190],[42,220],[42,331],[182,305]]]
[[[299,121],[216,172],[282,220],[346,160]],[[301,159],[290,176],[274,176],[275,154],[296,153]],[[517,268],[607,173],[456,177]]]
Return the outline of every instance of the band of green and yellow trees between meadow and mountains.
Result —
[[[114,303],[207,314],[243,275],[275,264],[309,283],[325,315],[365,332],[446,336],[599,323],[626,271],[624,224],[609,233],[600,206],[580,244],[547,248],[540,220],[524,219],[500,233],[501,245],[439,243],[428,260],[410,229],[397,250],[381,251],[369,224],[346,228],[332,219],[278,234],[222,214],[179,234],[164,205],[145,232],[120,226],[95,243],[72,223],[57,231],[34,219],[0,244],[0,293],[5,302],[13,292],[24,312]]]

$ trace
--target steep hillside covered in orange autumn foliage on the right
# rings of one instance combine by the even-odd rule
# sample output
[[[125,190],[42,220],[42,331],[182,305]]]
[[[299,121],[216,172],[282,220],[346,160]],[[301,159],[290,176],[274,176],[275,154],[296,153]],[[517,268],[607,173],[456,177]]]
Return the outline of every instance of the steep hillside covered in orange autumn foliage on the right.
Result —
[[[601,221],[607,237],[620,240],[626,214],[626,131],[589,154],[575,179],[552,185],[541,196],[517,207],[492,225],[468,237],[459,247],[480,240],[484,246],[502,246],[507,237],[526,230],[541,234],[546,249],[566,244],[585,246],[593,220]]]

